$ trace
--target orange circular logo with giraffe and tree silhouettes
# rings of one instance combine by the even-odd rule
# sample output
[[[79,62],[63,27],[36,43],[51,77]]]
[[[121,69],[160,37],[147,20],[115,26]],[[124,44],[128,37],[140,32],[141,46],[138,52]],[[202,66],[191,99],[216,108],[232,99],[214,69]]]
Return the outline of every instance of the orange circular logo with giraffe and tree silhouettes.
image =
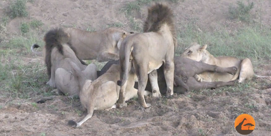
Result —
[[[255,121],[252,116],[241,114],[235,119],[234,127],[238,133],[247,135],[254,130]]]

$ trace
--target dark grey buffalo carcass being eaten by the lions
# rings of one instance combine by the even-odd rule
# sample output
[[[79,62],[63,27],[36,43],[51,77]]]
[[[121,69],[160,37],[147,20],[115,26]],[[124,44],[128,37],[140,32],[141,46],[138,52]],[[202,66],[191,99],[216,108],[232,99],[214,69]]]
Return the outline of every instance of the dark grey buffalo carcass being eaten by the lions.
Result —
[[[175,70],[174,70],[174,93],[184,93],[189,90],[200,90],[200,89],[208,89],[208,88],[218,88],[222,86],[230,86],[234,85],[236,81],[229,82],[198,82],[194,75],[202,73],[204,71],[213,71],[218,73],[227,72],[231,75],[236,74],[237,67],[227,67],[222,68],[215,65],[209,65],[203,62],[194,61],[188,58],[183,58],[179,56],[174,57]],[[113,64],[119,64],[119,61],[108,61],[106,65],[98,71],[100,75],[105,73],[109,67]],[[164,76],[164,67],[163,65],[157,70],[158,73],[158,85],[160,88],[161,94],[166,94],[167,84]],[[134,88],[138,88],[138,84],[136,83]],[[145,90],[151,91],[151,83],[148,80]],[[125,93],[126,94],[126,93]]]

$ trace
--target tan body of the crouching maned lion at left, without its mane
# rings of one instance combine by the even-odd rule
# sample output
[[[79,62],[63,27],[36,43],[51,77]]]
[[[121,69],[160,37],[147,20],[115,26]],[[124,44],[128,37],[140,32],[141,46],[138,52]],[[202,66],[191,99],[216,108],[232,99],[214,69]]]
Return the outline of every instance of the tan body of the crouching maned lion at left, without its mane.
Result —
[[[51,63],[51,78],[48,84],[69,96],[79,95],[79,83],[74,78],[72,69],[85,73],[87,79],[97,79],[96,66],[94,64],[88,66],[81,64],[75,53],[66,44],[63,44],[63,55],[56,48],[53,48]]]

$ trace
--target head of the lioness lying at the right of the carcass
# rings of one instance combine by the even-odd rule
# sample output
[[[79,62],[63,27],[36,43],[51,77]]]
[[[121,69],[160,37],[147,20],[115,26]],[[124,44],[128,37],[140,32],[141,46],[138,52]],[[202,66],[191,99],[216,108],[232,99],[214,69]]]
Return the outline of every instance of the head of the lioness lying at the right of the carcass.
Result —
[[[181,54],[181,57],[189,58],[195,61],[202,61],[206,55],[207,45],[200,47],[198,43],[191,43],[190,47],[186,48]]]

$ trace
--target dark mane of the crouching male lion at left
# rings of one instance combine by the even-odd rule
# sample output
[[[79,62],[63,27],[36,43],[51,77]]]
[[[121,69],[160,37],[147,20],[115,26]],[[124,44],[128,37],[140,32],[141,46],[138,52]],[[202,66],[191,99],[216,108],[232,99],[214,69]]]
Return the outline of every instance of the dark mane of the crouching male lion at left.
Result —
[[[45,42],[45,64],[47,67],[47,75],[49,76],[49,79],[51,78],[51,53],[53,48],[57,48],[59,53],[63,55],[63,44],[67,44],[76,54],[76,50],[72,47],[72,43],[70,41],[70,36],[68,33],[65,33],[62,28],[55,28],[49,30],[45,36],[44,36],[44,42]],[[77,57],[77,55],[76,55]],[[78,58],[78,57],[77,57]],[[79,59],[80,60],[80,59]],[[80,62],[84,65],[85,62]]]

